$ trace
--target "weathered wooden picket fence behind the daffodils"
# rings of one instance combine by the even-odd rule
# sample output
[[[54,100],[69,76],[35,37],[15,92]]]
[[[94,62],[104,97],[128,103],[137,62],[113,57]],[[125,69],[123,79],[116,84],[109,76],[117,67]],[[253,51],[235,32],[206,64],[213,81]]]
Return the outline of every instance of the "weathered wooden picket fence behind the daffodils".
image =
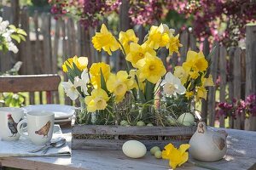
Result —
[[[47,13],[34,11],[30,14],[26,8],[20,9],[18,22],[14,22],[14,19],[11,18],[13,16],[12,10],[12,8],[4,7],[3,18],[5,20],[13,20],[13,23],[16,24],[20,23],[21,27],[29,34],[26,42],[20,43],[19,54],[0,54],[0,71],[9,70],[16,61],[20,60],[23,62],[20,74],[58,73],[63,75],[64,80],[67,81],[65,74],[61,72],[61,64],[65,59],[73,57],[73,55],[87,56],[90,61],[89,65],[93,62],[104,61],[110,64],[114,70],[123,68],[122,58],[119,53],[109,57],[106,53],[96,52],[92,47],[90,40],[95,34],[94,29],[85,31],[83,26],[80,26],[72,19],[54,20],[53,16]],[[145,32],[143,27],[139,26],[138,28],[136,30],[138,37],[143,37],[144,34],[142,32]],[[199,51],[201,44],[204,54],[209,54],[210,43],[207,39],[204,42],[197,42],[189,31],[181,31],[179,33],[183,48],[180,49],[180,56],[177,56],[177,54],[172,56],[172,63],[182,63],[186,59],[187,51],[189,49]],[[255,41],[255,39],[252,39],[252,41]],[[216,120],[215,108],[217,102],[230,101],[233,98],[244,99],[245,94],[248,95],[255,92],[251,88],[250,93],[245,90],[246,77],[248,76],[246,71],[250,71],[246,67],[248,62],[246,61],[247,51],[238,47],[225,48],[220,46],[218,42],[215,42],[214,45],[217,50],[212,58],[211,74],[213,81],[220,83],[213,88],[209,88],[207,101],[203,100],[201,102],[202,117],[205,121],[208,120],[208,124],[211,126],[214,125]],[[160,57],[168,65],[170,60],[166,61],[166,53],[161,53]],[[255,60],[253,62],[255,63]],[[251,69],[253,68],[253,62],[251,63]],[[251,77],[252,79],[253,77]],[[60,98],[64,98],[64,96],[60,96]],[[59,102],[59,99],[55,101]],[[67,99],[67,97],[65,97],[65,104],[72,105],[71,100]],[[246,129],[256,130],[256,127],[253,126],[256,124],[255,119],[254,117],[251,117],[251,119],[253,121],[250,120],[251,125],[249,127],[246,125]],[[236,120],[232,117],[225,119],[224,116],[220,116],[220,127],[225,126],[225,120],[229,121],[228,127],[238,129],[244,129],[244,122],[247,121],[244,116],[236,117]]]

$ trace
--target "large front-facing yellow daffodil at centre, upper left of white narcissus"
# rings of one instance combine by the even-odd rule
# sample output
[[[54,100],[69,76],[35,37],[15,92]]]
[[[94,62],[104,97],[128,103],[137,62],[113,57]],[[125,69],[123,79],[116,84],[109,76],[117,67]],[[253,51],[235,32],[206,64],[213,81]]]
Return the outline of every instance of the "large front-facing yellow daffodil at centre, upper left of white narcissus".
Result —
[[[146,53],[143,59],[137,61],[136,67],[140,71],[139,78],[147,79],[148,82],[154,84],[166,74],[166,68],[162,60],[149,53]]]

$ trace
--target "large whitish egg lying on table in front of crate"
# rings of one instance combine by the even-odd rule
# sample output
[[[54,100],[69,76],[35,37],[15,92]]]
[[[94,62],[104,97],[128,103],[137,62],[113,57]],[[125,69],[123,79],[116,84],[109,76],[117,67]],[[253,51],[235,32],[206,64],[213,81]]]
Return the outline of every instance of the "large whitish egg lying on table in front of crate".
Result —
[[[143,157],[147,152],[146,146],[137,140],[128,140],[123,144],[122,150],[125,156],[131,158]]]

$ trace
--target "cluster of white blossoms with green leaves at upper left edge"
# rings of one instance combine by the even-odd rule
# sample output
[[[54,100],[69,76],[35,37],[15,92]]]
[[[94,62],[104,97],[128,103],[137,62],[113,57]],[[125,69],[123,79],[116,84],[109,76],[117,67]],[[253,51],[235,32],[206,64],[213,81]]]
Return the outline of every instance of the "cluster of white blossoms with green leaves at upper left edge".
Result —
[[[9,25],[8,20],[3,20],[3,18],[0,17],[0,51],[18,53],[19,50],[12,40],[15,39],[16,42],[20,43],[21,40],[26,40],[25,37],[25,31],[13,25]]]

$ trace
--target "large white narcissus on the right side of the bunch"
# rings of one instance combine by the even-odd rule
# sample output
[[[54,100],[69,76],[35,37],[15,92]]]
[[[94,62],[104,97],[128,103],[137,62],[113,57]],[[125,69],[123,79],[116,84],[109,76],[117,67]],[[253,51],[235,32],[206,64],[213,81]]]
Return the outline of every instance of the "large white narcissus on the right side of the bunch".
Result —
[[[165,79],[161,82],[164,93],[167,95],[185,94],[186,88],[183,87],[179,78],[174,77],[172,72],[167,72]]]

